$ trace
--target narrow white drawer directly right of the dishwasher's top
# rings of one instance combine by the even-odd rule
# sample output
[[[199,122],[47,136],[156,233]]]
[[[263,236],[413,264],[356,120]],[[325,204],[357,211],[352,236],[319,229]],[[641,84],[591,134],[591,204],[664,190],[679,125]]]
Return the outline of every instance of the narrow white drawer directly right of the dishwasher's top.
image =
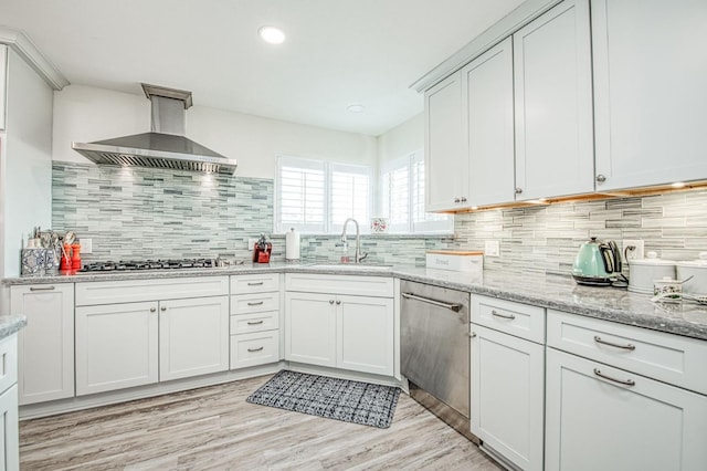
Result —
[[[545,343],[545,308],[472,295],[472,322],[539,344]]]

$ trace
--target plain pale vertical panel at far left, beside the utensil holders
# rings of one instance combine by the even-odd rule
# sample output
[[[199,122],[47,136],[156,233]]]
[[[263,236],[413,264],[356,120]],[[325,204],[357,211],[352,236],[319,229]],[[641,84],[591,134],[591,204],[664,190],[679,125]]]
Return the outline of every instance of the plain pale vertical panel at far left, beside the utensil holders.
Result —
[[[2,144],[2,273],[20,274],[20,250],[35,226],[52,223],[52,90],[10,50]]]

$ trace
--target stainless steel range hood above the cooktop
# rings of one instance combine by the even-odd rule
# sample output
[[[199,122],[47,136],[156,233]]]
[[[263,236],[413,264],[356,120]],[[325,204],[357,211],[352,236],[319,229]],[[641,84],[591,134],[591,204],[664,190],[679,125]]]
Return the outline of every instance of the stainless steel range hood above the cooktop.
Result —
[[[145,83],[143,90],[151,102],[150,133],[72,143],[71,147],[97,165],[235,174],[234,159],[184,137],[184,112],[192,105],[191,92]]]

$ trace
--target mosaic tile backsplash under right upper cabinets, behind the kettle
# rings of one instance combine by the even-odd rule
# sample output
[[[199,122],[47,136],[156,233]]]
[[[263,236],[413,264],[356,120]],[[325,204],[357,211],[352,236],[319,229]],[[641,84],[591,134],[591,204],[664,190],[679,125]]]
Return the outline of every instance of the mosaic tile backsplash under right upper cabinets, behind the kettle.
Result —
[[[614,240],[622,251],[622,240],[641,239],[646,253],[695,260],[707,251],[707,191],[457,214],[455,232],[456,247],[468,250],[500,241],[500,257],[485,257],[484,268],[513,273],[568,274],[590,237]],[[625,263],[623,272],[630,272]]]

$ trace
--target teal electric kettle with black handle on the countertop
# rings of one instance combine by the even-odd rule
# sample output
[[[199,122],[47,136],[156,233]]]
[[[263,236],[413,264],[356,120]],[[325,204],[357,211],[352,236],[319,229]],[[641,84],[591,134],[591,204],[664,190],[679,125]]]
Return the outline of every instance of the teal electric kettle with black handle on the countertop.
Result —
[[[572,265],[572,278],[579,284],[610,286],[621,273],[621,254],[614,241],[595,237],[582,243]]]

